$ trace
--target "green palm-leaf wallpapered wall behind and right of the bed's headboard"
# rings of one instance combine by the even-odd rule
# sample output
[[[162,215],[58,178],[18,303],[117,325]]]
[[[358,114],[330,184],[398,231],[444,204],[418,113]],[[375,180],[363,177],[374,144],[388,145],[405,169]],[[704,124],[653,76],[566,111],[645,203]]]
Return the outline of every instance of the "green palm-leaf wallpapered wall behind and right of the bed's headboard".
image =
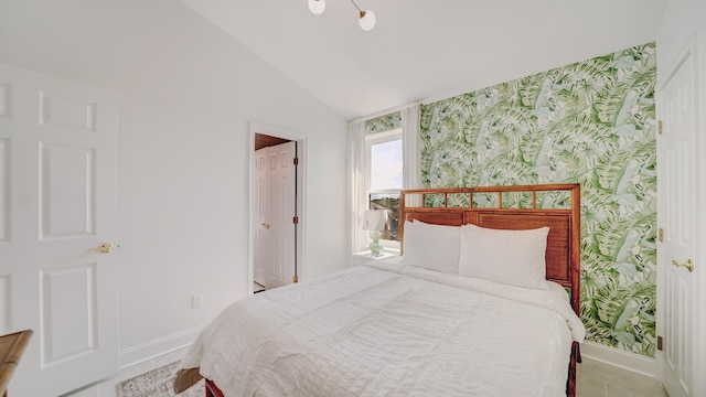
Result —
[[[655,44],[421,107],[427,187],[581,184],[588,340],[653,357]]]

